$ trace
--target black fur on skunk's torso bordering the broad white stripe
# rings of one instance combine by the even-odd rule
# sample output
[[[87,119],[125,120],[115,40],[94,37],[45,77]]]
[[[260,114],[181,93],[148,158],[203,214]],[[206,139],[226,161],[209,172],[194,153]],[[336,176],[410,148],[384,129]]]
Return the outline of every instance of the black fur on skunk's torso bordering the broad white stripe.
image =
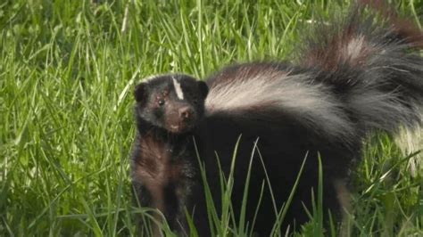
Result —
[[[251,63],[229,67],[218,72],[217,75],[228,75],[236,69],[252,67],[257,69],[278,69],[295,72],[302,72],[301,68],[284,63]],[[228,70],[228,71],[227,71]],[[228,72],[228,74],[226,74]],[[225,78],[226,79],[226,78]],[[213,87],[215,76],[207,80],[209,86]],[[311,80],[311,83],[312,80]],[[212,89],[211,89],[212,90]],[[329,139],[328,135],[320,130],[310,129],[290,114],[288,111],[280,110],[271,106],[243,110],[240,113],[216,112],[207,116],[199,126],[201,133],[197,135],[197,141],[201,141],[203,148],[200,157],[205,163],[207,170],[208,184],[211,186],[217,209],[220,209],[220,180],[219,168],[217,167],[216,154],[219,156],[219,163],[224,174],[229,174],[235,144],[238,138],[238,149],[236,151],[236,169],[234,173],[234,190],[232,193],[232,204],[235,213],[241,210],[241,204],[245,189],[245,179],[250,160],[252,161],[251,178],[248,192],[246,219],[253,220],[256,208],[261,196],[261,189],[264,190],[259,211],[257,212],[254,232],[260,236],[269,236],[275,224],[278,211],[287,200],[289,193],[294,187],[295,179],[299,173],[305,158],[303,174],[294,193],[294,201],[289,206],[283,223],[282,233],[287,225],[298,227],[309,220],[304,207],[311,210],[311,190],[314,197],[317,197],[318,188],[318,167],[319,156],[322,158],[325,210],[330,208],[334,217],[340,217],[338,210],[340,203],[337,200],[337,191],[334,181],[344,181],[352,160],[360,156],[361,140],[359,135],[349,137],[348,143],[342,140]],[[258,150],[253,152],[254,143],[257,142]],[[261,164],[264,163],[264,167]],[[266,169],[266,170],[265,170]],[[267,183],[265,171],[267,171],[271,192],[274,196],[273,202],[270,196],[270,186]],[[326,214],[328,212],[326,211]]]

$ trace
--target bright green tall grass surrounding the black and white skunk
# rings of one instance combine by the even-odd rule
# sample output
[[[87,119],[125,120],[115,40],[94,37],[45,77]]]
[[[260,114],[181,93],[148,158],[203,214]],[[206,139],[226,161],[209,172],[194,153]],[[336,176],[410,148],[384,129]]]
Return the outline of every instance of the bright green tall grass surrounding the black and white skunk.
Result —
[[[315,15],[346,9],[341,0],[173,2],[0,3],[1,236],[133,234],[134,83],[284,58]],[[421,0],[394,5],[421,24]],[[352,172],[352,235],[423,235],[423,172],[411,176],[387,135],[368,144]]]

